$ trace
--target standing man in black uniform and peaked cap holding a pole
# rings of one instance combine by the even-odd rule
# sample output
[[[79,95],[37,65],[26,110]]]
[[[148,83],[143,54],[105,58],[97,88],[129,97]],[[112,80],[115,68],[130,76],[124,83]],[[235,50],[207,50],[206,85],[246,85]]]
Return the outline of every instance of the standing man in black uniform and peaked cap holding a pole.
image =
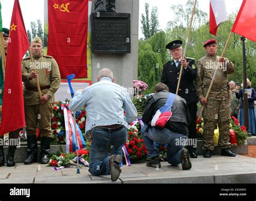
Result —
[[[197,68],[195,66],[194,59],[186,58],[182,59],[183,49],[181,47],[181,40],[174,40],[166,45],[166,48],[170,50],[170,54],[173,60],[164,64],[161,82],[169,87],[171,93],[176,93],[179,73],[181,64],[184,70],[181,74],[180,86],[178,95],[184,98],[187,102],[188,110],[191,115],[191,124],[188,126],[188,138],[191,140],[187,145],[187,149],[190,152],[192,158],[197,158],[196,155],[196,139],[197,139],[197,94],[194,87],[194,79],[197,77]]]

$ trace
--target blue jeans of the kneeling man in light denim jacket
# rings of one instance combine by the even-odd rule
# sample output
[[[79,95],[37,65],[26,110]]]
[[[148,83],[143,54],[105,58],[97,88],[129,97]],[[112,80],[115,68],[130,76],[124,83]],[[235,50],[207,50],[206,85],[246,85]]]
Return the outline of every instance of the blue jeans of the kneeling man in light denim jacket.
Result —
[[[109,150],[112,145],[112,154],[123,156],[122,147],[126,142],[127,128],[111,131],[106,128],[105,131],[97,127],[92,130],[92,144],[90,149],[89,172],[92,175],[110,175]]]

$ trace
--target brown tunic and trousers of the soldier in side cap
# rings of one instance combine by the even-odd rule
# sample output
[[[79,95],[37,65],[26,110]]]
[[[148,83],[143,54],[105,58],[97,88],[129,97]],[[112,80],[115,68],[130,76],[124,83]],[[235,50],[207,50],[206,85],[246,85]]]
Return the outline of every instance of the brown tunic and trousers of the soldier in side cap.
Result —
[[[58,64],[51,56],[42,56],[34,59],[35,68],[38,71],[38,81],[42,96],[49,95],[50,100],[44,104],[39,103],[36,79],[29,79],[33,71],[30,57],[22,60],[22,80],[24,82],[24,105],[26,133],[36,135],[36,125],[39,123],[41,135],[51,137],[52,105],[55,101],[54,94],[60,85],[60,73]]]

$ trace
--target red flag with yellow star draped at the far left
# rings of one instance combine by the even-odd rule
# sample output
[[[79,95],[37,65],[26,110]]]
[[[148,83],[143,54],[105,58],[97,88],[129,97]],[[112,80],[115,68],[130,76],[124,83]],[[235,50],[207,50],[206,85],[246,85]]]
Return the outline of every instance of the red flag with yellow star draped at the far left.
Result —
[[[21,61],[29,40],[18,0],[14,2],[9,37],[0,136],[25,126]]]

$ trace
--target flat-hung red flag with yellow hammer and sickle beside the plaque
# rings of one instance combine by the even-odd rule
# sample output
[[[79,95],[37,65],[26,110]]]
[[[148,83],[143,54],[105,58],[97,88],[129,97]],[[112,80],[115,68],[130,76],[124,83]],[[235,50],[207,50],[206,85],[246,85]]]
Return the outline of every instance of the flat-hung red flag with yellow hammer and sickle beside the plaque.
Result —
[[[59,66],[60,77],[87,78],[89,0],[48,0],[48,54]]]

